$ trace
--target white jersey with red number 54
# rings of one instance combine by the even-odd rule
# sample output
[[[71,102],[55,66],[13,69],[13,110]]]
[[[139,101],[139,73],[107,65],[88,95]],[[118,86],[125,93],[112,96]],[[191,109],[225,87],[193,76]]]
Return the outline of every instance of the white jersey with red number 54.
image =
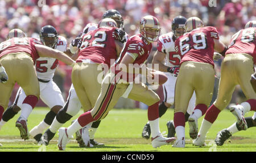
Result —
[[[59,36],[56,48],[61,52],[67,51],[67,39],[63,36]],[[50,57],[40,57],[36,60],[36,74],[41,80],[49,81],[54,76],[59,60]]]

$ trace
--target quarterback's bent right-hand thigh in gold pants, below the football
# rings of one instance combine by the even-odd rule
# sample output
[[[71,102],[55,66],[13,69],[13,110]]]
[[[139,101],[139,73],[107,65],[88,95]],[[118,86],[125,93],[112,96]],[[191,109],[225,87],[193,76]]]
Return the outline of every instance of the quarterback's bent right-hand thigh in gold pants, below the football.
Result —
[[[158,94],[153,90],[148,89],[144,83],[134,83],[128,98],[143,102],[148,106],[151,106],[160,100]]]

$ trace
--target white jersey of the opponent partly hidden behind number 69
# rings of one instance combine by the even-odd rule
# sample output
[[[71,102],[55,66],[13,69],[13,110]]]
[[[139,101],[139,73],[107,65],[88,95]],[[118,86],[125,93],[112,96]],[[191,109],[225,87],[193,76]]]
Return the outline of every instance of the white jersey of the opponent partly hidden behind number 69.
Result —
[[[175,52],[175,44],[173,39],[174,34],[169,32],[167,34],[159,36],[158,39],[158,51],[166,53],[164,65],[173,67],[178,66],[181,60],[181,56]]]

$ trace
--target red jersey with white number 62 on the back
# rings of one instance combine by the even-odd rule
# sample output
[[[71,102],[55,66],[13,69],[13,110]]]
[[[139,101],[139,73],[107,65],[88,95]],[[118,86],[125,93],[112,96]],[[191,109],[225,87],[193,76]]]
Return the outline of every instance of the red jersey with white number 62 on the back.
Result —
[[[82,37],[79,57],[76,62],[89,59],[99,64],[107,64],[110,67],[110,59],[117,60],[115,35],[115,27],[101,27],[88,32]]]

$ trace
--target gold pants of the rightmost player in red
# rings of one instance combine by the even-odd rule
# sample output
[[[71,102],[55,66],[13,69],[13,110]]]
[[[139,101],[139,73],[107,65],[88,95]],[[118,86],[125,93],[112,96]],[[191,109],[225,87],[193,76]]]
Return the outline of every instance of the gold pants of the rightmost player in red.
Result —
[[[213,103],[219,110],[229,105],[236,85],[240,85],[246,99],[255,99],[256,94],[250,78],[254,73],[253,57],[247,54],[226,55],[221,64],[218,95]]]

